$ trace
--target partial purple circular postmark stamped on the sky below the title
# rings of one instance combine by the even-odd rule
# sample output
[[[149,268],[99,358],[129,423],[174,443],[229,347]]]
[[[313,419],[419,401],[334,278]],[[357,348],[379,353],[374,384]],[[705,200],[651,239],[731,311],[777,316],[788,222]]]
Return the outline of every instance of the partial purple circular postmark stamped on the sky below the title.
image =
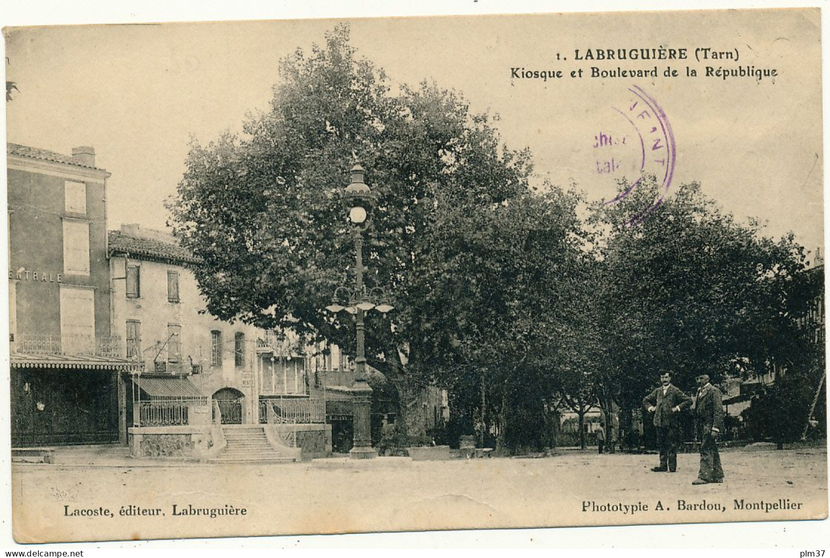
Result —
[[[614,119],[609,124],[613,124],[593,137],[593,172],[626,178],[629,183],[624,192],[606,204],[627,197],[647,174],[657,177],[657,197],[628,221],[629,225],[637,225],[662,204],[671,187],[676,146],[669,119],[657,101],[637,85],[629,87],[628,92],[625,104],[611,107]]]

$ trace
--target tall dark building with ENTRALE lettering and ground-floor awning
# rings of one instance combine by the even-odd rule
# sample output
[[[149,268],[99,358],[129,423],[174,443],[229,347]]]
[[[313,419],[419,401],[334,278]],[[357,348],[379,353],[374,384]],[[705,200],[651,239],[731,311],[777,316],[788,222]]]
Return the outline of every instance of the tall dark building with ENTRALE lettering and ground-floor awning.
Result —
[[[7,162],[12,447],[117,442],[137,365],[110,329],[110,173],[90,147]]]

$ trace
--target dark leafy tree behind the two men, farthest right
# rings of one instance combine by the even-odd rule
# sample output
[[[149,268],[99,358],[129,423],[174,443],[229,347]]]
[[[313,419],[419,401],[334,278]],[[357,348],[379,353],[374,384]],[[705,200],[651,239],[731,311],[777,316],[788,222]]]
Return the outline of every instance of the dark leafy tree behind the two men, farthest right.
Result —
[[[596,214],[605,233],[595,306],[604,340],[599,386],[631,410],[662,370],[691,391],[704,372],[719,381],[773,364],[797,368],[803,248],[792,235],[772,240],[759,223],[736,221],[696,183],[632,221],[656,195],[647,180]]]

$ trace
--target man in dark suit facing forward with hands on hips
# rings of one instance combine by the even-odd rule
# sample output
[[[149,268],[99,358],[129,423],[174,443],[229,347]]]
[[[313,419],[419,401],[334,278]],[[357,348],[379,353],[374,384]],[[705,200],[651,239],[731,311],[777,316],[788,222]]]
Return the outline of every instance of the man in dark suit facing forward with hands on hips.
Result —
[[[661,473],[677,470],[677,444],[681,439],[681,410],[691,406],[691,397],[671,385],[671,372],[660,375],[662,386],[652,391],[642,405],[648,412],[654,413],[654,426],[657,429],[657,447],[660,449],[660,466],[652,471]]]

